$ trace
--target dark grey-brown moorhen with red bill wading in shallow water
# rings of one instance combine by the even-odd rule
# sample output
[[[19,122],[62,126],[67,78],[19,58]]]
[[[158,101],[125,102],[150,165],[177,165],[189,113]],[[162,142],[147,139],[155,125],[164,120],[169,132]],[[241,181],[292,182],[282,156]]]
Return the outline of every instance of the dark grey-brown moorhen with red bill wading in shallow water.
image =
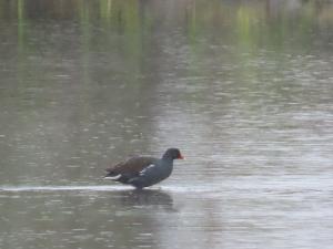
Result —
[[[184,159],[178,148],[168,148],[161,158],[134,156],[107,168],[104,178],[142,189],[168,178],[174,159]]]

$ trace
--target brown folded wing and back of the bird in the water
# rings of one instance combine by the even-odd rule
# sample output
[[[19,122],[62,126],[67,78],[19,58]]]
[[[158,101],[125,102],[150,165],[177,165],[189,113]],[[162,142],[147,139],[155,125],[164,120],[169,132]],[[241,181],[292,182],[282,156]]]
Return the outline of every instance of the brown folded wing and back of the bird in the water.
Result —
[[[153,164],[155,158],[145,157],[145,156],[137,156],[132,157],[128,160],[121,162],[114,166],[107,168],[108,173],[112,173],[114,175],[122,174],[139,174],[143,168]]]

